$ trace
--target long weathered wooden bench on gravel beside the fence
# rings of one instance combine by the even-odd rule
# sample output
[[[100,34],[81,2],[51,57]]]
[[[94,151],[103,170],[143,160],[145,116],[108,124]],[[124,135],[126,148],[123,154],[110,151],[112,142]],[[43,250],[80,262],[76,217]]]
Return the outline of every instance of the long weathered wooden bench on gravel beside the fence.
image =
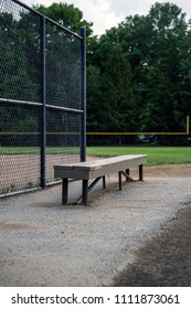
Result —
[[[132,180],[129,169],[139,168],[139,180],[144,180],[142,164],[147,161],[146,154],[127,154],[113,158],[105,158],[95,161],[76,162],[70,164],[54,166],[54,177],[62,178],[62,204],[67,204],[68,180],[82,180],[82,196],[77,200],[87,205],[88,192],[103,179],[103,188],[106,188],[105,175],[118,172],[119,190],[121,190],[121,175],[126,180]],[[89,180],[94,180],[88,184]],[[76,203],[77,203],[76,202]]]

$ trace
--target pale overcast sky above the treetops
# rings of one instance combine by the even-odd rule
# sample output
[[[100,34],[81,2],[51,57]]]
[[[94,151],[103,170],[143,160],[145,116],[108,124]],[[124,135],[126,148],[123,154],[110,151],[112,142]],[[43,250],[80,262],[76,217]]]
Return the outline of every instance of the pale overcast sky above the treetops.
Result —
[[[128,15],[147,14],[155,2],[171,2],[187,13],[191,19],[191,4],[189,0],[21,0],[28,6],[43,4],[49,7],[53,2],[74,4],[83,12],[87,22],[94,23],[94,34],[104,34],[106,29],[116,26]]]

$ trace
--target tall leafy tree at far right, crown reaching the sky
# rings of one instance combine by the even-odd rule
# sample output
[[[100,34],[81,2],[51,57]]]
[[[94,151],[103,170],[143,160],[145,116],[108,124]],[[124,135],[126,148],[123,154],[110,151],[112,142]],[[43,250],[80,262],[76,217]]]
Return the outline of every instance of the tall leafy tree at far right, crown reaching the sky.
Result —
[[[148,17],[152,23],[153,41],[150,46],[151,65],[147,74],[149,92],[142,120],[146,129],[152,131],[183,131],[180,85],[187,53],[185,14],[176,4],[156,3]]]

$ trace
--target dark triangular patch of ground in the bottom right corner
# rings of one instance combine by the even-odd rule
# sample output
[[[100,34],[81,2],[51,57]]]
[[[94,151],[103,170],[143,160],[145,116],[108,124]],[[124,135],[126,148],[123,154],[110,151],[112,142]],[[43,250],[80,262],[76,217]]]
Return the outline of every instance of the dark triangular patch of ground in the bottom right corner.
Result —
[[[114,286],[191,286],[191,203],[136,249]]]

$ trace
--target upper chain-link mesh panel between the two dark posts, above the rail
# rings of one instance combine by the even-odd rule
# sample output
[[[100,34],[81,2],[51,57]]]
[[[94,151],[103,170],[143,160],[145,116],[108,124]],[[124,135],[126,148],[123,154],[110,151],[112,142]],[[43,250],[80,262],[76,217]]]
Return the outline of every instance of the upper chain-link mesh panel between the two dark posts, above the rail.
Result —
[[[81,40],[46,20],[47,104],[81,108]]]

